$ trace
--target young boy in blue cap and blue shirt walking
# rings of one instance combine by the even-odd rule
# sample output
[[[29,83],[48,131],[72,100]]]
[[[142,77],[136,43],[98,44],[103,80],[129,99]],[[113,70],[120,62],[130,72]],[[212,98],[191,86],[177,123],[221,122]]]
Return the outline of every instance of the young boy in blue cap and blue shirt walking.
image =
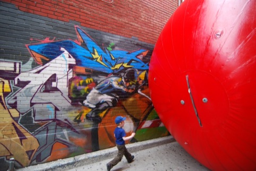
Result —
[[[134,156],[132,156],[131,153],[127,151],[124,141],[132,139],[134,137],[135,133],[133,132],[130,136],[125,137],[126,133],[122,129],[122,127],[124,126],[125,119],[126,119],[126,117],[122,117],[122,116],[117,116],[115,118],[115,123],[116,123],[117,127],[114,131],[114,136],[116,138],[116,147],[118,149],[118,153],[117,153],[117,156],[107,164],[108,171],[113,166],[118,164],[122,160],[123,156],[125,156],[128,163],[131,163],[132,160],[134,159]]]

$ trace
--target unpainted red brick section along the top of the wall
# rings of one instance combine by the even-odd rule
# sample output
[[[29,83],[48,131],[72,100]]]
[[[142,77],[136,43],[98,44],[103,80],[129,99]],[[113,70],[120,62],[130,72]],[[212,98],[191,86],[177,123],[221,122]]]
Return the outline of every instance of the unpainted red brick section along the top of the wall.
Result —
[[[155,44],[161,29],[178,6],[178,1],[101,0],[4,0],[19,10],[51,19],[78,21],[82,26]],[[109,1],[110,2],[110,1]]]

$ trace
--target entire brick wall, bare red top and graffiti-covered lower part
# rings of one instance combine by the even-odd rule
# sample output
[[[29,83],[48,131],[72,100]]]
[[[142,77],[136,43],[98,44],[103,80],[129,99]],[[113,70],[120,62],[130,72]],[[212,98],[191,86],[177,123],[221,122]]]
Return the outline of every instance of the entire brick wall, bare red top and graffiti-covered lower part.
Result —
[[[106,0],[107,1],[107,0]],[[169,135],[148,66],[176,1],[1,1],[0,170]]]

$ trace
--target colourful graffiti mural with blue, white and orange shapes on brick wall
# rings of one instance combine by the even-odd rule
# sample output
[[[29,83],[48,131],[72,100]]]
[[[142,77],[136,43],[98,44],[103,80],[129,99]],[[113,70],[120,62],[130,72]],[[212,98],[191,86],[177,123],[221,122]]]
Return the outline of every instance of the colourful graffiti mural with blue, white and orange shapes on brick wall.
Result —
[[[25,167],[114,147],[117,115],[127,117],[126,133],[136,132],[131,142],[168,135],[149,97],[152,49],[99,46],[75,31],[76,40],[26,45],[33,62],[0,59],[1,165],[12,157]]]

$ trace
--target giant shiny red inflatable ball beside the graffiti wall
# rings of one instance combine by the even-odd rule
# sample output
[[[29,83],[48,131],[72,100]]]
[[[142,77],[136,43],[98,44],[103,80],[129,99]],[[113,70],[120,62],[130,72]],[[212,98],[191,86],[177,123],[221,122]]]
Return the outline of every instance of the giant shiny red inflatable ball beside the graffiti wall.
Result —
[[[161,121],[211,170],[256,170],[255,7],[185,0],[151,57],[150,96]]]

